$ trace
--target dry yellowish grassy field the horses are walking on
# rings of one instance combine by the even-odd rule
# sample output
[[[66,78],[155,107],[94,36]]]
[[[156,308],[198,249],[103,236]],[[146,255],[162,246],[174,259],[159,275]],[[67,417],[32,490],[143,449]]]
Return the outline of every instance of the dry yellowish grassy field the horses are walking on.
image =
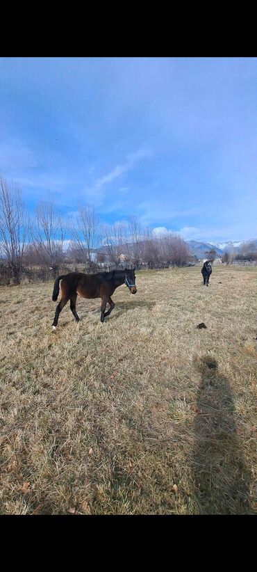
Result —
[[[0,287],[1,514],[254,513],[257,269],[200,270],[54,333],[53,283]]]

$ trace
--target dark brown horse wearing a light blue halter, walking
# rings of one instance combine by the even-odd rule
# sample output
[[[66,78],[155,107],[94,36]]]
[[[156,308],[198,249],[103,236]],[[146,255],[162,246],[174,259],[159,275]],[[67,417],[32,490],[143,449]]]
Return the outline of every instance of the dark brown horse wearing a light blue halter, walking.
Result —
[[[110,296],[112,296],[117,287],[126,284],[132,294],[135,294],[137,291],[135,287],[135,269],[127,270],[125,268],[124,270],[113,270],[112,272],[98,272],[97,274],[70,272],[69,274],[63,274],[63,276],[56,278],[52,296],[54,302],[58,299],[60,280],[62,280],[60,285],[62,297],[56,308],[56,314],[52,324],[53,330],[56,329],[59,314],[65,307],[65,304],[67,304],[67,301],[70,301],[70,309],[72,310],[74,318],[76,321],[79,321],[79,317],[76,313],[77,295],[82,296],[82,298],[101,298],[101,322],[103,322],[104,318],[106,318],[115,307]],[[110,305],[110,308],[106,312],[107,303]]]

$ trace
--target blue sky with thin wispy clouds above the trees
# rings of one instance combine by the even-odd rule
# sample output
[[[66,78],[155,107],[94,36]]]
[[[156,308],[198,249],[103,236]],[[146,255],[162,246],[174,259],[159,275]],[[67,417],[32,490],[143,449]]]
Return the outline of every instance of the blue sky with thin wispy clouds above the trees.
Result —
[[[257,58],[0,58],[0,171],[101,221],[257,237]]]

